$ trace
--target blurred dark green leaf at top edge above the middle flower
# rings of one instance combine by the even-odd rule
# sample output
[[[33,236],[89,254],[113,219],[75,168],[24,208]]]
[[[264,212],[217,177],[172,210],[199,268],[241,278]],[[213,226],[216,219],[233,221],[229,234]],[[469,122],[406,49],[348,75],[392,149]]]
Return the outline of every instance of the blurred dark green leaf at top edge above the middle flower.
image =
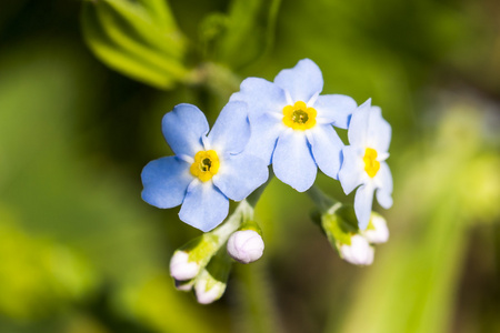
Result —
[[[273,43],[279,6],[280,0],[233,0],[227,17],[208,17],[201,37],[208,53],[234,69],[258,60]]]

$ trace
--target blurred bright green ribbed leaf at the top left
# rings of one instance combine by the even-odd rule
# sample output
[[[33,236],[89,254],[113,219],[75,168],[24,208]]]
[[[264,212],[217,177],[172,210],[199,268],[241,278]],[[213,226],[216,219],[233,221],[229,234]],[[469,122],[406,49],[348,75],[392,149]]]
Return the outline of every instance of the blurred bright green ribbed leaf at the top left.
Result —
[[[186,41],[166,3],[144,0],[84,1],[81,24],[96,56],[112,69],[169,89],[186,79]]]

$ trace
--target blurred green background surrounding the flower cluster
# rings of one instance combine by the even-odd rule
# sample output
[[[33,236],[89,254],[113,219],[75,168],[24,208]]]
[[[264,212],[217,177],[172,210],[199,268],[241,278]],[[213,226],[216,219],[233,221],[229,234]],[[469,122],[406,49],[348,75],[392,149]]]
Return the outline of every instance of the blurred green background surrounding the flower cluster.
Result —
[[[494,0],[2,0],[0,332],[500,332],[499,17]],[[374,205],[391,239],[352,266],[273,180],[263,259],[199,305],[168,263],[200,232],[140,199],[170,154],[161,118],[189,102],[213,122],[242,79],[302,58],[392,125],[394,205]]]

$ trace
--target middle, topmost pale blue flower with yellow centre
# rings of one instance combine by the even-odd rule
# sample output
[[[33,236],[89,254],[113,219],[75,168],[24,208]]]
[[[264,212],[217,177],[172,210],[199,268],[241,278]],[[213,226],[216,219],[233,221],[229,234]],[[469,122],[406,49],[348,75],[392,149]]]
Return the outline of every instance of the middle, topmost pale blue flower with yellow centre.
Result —
[[[274,82],[246,79],[231,97],[249,105],[252,135],[247,151],[272,162],[278,179],[300,192],[314,183],[318,167],[338,179],[343,144],[332,125],[347,129],[357,108],[347,95],[320,95],[322,89],[320,69],[303,59]]]

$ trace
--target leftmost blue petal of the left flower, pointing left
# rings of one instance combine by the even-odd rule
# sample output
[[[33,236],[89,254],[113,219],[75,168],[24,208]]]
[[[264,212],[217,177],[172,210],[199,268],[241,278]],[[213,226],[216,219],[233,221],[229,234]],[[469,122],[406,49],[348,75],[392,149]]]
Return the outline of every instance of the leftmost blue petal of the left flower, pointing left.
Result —
[[[149,162],[141,173],[142,200],[161,209],[182,203],[186,190],[193,180],[189,164],[176,158],[161,158]]]

